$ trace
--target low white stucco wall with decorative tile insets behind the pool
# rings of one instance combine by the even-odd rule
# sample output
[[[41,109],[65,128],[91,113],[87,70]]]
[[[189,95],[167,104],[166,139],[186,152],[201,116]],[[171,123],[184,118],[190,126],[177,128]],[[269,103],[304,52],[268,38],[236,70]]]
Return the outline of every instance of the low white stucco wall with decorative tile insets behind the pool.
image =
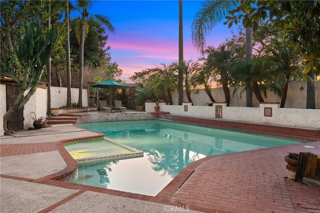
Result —
[[[145,103],[147,112],[154,111]],[[187,105],[187,111],[185,106]],[[215,105],[222,105],[222,118],[215,117]],[[264,108],[272,108],[272,116],[264,116]],[[259,107],[234,107],[225,103],[214,103],[213,106],[196,106],[189,103],[182,105],[160,105],[160,111],[174,115],[216,118],[244,122],[266,123],[273,125],[320,128],[320,109],[279,108],[279,104],[261,103]]]

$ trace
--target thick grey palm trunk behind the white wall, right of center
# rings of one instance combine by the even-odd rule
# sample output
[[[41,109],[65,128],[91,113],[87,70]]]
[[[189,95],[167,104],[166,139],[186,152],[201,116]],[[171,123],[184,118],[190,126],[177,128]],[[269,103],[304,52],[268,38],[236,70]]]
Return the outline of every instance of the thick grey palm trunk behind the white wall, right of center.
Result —
[[[252,28],[245,28],[245,60],[250,62],[252,60]],[[252,107],[252,86],[248,81],[245,86],[246,106]]]

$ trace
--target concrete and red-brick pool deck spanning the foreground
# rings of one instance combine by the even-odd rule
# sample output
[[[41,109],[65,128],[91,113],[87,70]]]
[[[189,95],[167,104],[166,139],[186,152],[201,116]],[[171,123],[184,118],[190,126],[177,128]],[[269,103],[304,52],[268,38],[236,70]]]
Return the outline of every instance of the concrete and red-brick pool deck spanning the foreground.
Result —
[[[57,124],[2,136],[0,211],[320,212],[320,191],[284,178],[283,159],[288,151],[320,153],[319,141],[202,158],[154,197],[54,180],[74,163],[59,141],[98,135]]]

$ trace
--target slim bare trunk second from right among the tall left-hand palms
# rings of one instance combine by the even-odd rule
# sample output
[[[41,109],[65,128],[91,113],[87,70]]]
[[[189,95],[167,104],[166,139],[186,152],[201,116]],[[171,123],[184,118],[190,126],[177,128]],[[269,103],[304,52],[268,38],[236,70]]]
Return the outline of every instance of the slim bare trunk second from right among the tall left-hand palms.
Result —
[[[71,65],[70,65],[70,18],[69,18],[69,1],[66,0],[65,5],[65,19],[66,19],[66,107],[71,107]]]

